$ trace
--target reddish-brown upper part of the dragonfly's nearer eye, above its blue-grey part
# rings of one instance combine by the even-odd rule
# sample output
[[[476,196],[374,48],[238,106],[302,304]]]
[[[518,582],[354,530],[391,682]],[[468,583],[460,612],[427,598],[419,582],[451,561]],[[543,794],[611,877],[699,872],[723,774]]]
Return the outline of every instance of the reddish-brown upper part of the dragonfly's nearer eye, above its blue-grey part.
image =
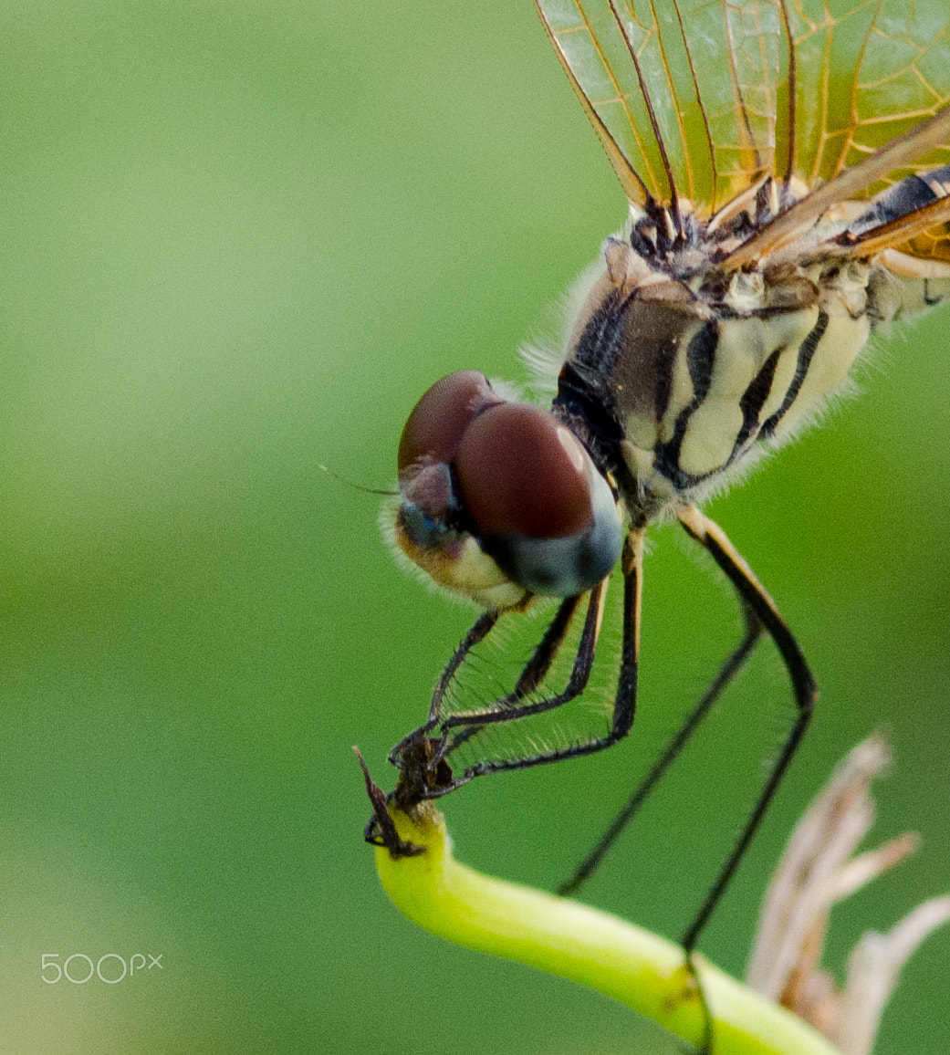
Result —
[[[504,403],[483,411],[455,455],[460,498],[480,535],[578,535],[593,518],[589,457],[548,411]]]

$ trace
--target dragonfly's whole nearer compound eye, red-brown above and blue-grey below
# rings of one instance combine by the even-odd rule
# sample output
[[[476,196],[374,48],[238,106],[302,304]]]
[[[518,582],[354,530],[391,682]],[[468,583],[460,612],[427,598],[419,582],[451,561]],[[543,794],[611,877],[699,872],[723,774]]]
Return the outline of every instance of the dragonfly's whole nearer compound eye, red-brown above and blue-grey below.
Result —
[[[569,597],[604,578],[620,556],[614,495],[549,411],[525,403],[484,410],[465,430],[454,469],[482,549],[525,590]]]

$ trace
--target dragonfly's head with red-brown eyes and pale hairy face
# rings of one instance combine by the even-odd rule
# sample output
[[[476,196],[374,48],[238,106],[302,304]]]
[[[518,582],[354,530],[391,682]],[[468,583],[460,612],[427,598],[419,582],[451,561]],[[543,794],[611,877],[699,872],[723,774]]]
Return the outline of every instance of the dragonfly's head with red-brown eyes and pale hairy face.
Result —
[[[443,378],[415,404],[399,472],[398,545],[487,608],[582,593],[620,556],[617,500],[580,440],[477,370]]]

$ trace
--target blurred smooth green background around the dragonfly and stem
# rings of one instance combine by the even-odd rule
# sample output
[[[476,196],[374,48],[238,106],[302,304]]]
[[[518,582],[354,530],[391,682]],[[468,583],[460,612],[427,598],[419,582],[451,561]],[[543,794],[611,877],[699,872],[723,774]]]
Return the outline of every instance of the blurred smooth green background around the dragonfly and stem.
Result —
[[[350,746],[391,786],[470,614],[317,464],[391,485],[419,395],[523,379],[517,345],[624,218],[531,4],[50,0],[2,26],[0,1049],[675,1051],[414,929],[362,842]],[[872,729],[896,756],[876,836],[924,848],[838,913],[830,962],[950,887],[948,319],[880,343],[859,399],[712,506],[822,688],[703,941],[733,972],[793,820]],[[452,797],[464,860],[551,885],[623,800],[736,630],[687,554],[655,533],[636,735]],[[786,699],[763,649],[593,901],[682,929]],[[915,957],[879,1052],[950,1048],[948,950]],[[46,953],[162,968],[47,985]]]

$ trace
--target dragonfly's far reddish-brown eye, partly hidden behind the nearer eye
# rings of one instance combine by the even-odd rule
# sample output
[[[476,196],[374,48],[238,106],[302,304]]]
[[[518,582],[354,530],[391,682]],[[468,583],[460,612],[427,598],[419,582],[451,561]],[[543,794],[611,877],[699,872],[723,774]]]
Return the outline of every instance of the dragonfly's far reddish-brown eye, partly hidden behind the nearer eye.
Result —
[[[459,370],[437,381],[415,404],[403,428],[400,474],[423,458],[430,462],[451,461],[472,419],[502,402],[479,370]]]

